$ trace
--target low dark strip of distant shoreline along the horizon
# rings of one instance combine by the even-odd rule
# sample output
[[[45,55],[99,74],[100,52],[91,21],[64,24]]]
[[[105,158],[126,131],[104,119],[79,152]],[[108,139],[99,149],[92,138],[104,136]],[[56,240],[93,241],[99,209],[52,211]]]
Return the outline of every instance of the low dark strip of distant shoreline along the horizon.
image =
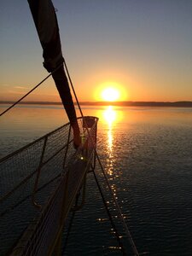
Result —
[[[1,101],[0,104],[13,104]],[[20,105],[62,105],[61,102],[20,102]],[[75,103],[77,105],[77,103]],[[81,106],[119,106],[119,107],[177,107],[192,108],[192,102],[80,102]]]

